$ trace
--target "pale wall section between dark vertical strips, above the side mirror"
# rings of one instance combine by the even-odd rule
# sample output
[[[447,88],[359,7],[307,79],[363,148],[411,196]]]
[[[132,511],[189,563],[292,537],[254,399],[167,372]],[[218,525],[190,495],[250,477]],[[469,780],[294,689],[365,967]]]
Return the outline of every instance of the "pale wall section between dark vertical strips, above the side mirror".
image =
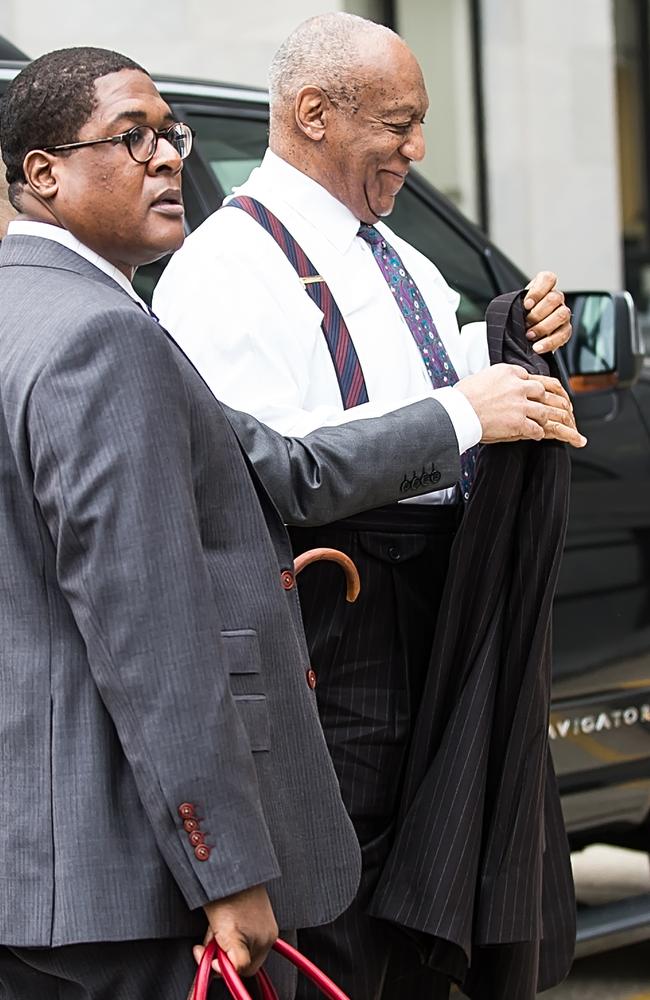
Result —
[[[490,232],[565,288],[622,283],[611,0],[482,0]]]

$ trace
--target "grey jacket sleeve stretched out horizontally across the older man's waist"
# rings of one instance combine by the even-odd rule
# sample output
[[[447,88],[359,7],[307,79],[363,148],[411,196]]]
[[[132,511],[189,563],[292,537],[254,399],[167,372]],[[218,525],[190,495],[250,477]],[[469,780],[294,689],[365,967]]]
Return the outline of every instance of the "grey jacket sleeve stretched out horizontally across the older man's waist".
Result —
[[[445,489],[460,476],[456,434],[435,399],[304,438],[283,437],[250,414],[224,410],[287,524],[327,524]]]

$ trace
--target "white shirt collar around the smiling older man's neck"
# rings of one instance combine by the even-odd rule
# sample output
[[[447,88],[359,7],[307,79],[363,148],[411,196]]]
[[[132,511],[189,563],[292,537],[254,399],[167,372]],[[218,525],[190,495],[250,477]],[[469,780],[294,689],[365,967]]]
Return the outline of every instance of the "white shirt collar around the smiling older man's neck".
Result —
[[[322,184],[303,174],[270,149],[264,154],[260,166],[250,175],[246,188],[249,182],[251,187],[261,187],[284,201],[340,253],[345,253],[350,248],[359,230],[356,215]],[[244,193],[247,192],[242,191]]]

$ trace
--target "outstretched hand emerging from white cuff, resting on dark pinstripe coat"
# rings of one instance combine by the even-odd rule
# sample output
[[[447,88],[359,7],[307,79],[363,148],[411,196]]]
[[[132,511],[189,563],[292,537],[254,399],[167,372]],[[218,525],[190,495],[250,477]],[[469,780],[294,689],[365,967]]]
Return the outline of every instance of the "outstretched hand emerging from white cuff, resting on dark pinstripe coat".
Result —
[[[575,448],[587,439],[576,429],[571,401],[557,379],[529,375],[519,365],[493,365],[456,384],[483,428],[481,441],[555,438]]]

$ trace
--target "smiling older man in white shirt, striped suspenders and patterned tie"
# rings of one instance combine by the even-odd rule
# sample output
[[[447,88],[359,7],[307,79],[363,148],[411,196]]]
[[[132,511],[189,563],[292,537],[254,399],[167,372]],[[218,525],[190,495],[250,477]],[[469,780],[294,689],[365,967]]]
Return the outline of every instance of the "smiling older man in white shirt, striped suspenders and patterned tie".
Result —
[[[300,589],[321,719],[364,855],[354,905],[300,940],[347,992],[371,1000],[391,950],[398,965],[412,957],[364,908],[393,832],[473,446],[489,440],[498,389],[488,381],[480,402],[468,399],[471,373],[488,363],[484,327],[461,335],[458,295],[379,223],[425,151],[428,98],[404,42],[352,15],[313,18],[275,56],[270,95],[262,166],[173,258],[156,312],[220,397],[284,433],[429,395],[447,409],[461,455],[459,485],[428,503],[292,533],[296,551],[336,545],[362,572],[352,611],[326,567]],[[531,283],[526,308],[536,350],[566,341],[570,317],[553,275]],[[429,472],[409,470],[405,482]],[[425,977],[399,990],[432,988]]]

